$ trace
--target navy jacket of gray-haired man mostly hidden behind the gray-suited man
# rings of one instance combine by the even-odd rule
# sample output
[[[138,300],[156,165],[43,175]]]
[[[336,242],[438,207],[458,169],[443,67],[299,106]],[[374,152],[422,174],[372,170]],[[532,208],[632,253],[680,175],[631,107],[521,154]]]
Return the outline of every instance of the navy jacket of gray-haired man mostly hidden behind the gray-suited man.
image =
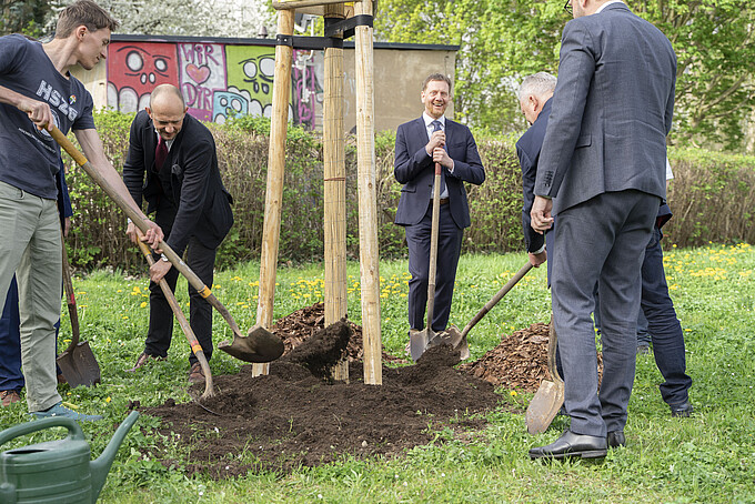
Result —
[[[535,200],[534,189],[535,177],[537,175],[537,161],[543,147],[543,139],[545,138],[547,119],[551,115],[552,102],[552,98],[545,102],[535,122],[532,123],[530,129],[516,142],[516,155],[519,155],[520,165],[522,167],[522,229],[524,231],[524,242],[527,244],[527,252],[538,251],[545,240],[542,234],[532,229],[530,211]]]

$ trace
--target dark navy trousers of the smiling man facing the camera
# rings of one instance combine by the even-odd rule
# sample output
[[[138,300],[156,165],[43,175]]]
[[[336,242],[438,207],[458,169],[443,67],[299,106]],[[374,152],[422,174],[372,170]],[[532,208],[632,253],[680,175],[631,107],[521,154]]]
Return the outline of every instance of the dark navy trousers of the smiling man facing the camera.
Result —
[[[427,305],[427,282],[430,272],[430,238],[432,232],[433,205],[422,220],[406,226],[406,244],[409,245],[409,325],[423,330],[425,326],[425,308]],[[433,331],[443,331],[451,314],[453,286],[456,281],[456,266],[462,250],[464,230],[456,226],[451,216],[451,205],[441,205],[437,236],[437,268],[435,275],[435,302],[433,303]]]

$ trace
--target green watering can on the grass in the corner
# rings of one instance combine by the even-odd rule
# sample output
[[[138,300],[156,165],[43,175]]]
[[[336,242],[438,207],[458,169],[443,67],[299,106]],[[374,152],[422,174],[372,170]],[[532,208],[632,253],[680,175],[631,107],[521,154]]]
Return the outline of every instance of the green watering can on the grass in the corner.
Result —
[[[50,427],[68,429],[64,440],[48,441],[0,454],[0,503],[94,503],[123,437],[139,417],[131,412],[95,461],[76,421],[49,417],[0,432],[0,445]]]

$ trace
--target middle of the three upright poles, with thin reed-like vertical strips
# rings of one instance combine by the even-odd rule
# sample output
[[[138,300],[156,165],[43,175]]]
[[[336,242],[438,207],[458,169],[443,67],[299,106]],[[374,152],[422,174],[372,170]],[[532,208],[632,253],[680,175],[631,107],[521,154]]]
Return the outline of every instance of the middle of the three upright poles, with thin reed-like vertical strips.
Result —
[[[343,19],[343,3],[325,6],[325,19]],[[325,49],[323,97],[325,326],[346,316],[346,164],[343,131],[343,49]],[[332,370],[334,380],[349,382],[349,361]]]

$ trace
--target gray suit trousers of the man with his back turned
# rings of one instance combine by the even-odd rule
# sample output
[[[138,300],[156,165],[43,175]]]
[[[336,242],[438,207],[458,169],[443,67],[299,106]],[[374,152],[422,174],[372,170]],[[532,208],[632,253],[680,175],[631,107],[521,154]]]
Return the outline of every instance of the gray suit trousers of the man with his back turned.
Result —
[[[566,413],[576,434],[623,431],[634,382],[641,268],[660,198],[603,193],[558,212],[552,304],[564,366]],[[591,313],[601,291],[603,381]]]

